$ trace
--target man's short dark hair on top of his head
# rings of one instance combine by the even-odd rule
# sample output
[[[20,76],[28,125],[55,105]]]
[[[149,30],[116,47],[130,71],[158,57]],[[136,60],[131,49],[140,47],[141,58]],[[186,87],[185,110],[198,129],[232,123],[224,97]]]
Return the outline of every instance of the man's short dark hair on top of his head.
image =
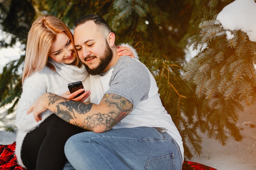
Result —
[[[79,26],[80,24],[83,24],[90,20],[92,20],[96,25],[99,25],[99,26],[102,26],[103,28],[105,28],[109,33],[111,32],[108,22],[106,22],[106,20],[104,20],[102,17],[92,14],[92,13],[75,20],[74,27],[76,28],[76,26]]]

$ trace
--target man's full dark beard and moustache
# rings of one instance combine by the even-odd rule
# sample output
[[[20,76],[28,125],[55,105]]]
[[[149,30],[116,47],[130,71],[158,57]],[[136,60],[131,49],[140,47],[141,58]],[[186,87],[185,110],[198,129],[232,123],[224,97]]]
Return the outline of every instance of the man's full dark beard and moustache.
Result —
[[[89,56],[89,57],[96,57],[96,56]],[[84,64],[84,66],[90,75],[99,75],[107,68],[108,64],[112,60],[112,57],[113,57],[113,52],[110,49],[110,46],[108,45],[108,43],[106,42],[106,48],[105,48],[104,54],[101,58],[99,58],[99,66],[94,69],[90,69],[86,64]],[[85,61],[86,61],[86,58],[85,58]]]

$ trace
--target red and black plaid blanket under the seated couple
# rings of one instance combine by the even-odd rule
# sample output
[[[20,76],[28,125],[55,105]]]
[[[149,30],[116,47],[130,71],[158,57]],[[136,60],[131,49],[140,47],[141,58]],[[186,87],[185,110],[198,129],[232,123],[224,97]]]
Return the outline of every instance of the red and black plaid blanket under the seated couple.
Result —
[[[0,145],[0,170],[25,170],[17,163],[14,155],[16,143],[10,145]],[[184,161],[182,170],[216,170],[200,163]]]

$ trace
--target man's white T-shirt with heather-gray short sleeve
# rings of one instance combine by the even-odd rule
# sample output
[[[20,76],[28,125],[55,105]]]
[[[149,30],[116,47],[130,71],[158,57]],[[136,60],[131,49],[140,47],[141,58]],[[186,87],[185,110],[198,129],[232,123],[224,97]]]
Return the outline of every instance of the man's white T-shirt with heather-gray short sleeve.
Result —
[[[90,76],[90,90],[91,102],[96,104],[99,104],[106,93],[121,95],[133,104],[132,112],[113,129],[142,126],[166,128],[180,146],[183,156],[180,132],[162,105],[155,78],[143,63],[121,56],[109,71]]]

